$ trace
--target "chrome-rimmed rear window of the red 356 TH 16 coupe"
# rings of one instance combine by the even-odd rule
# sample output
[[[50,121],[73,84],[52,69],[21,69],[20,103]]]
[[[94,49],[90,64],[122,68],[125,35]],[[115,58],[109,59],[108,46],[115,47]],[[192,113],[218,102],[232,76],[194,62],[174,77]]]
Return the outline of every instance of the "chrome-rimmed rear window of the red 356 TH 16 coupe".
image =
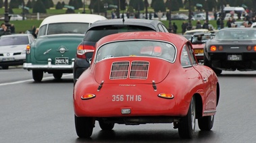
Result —
[[[101,46],[99,50],[97,50],[95,62],[107,58],[124,56],[147,56],[174,62],[176,58],[176,48],[170,43],[152,40],[111,42]]]

